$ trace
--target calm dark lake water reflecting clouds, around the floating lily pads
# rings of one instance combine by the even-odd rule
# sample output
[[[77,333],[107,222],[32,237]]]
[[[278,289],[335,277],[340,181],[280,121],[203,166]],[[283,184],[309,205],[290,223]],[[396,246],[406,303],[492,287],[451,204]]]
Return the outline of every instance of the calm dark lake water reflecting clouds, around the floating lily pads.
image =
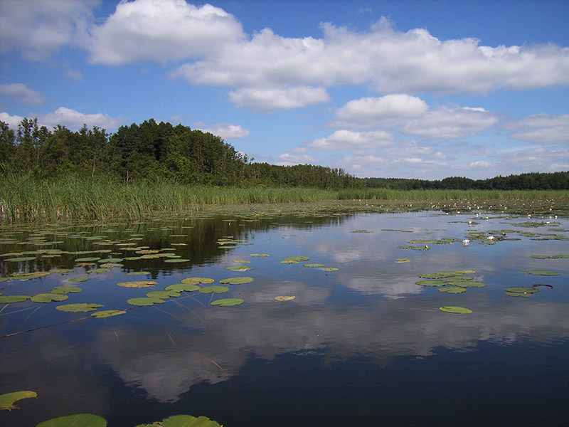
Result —
[[[223,238],[237,242],[223,248]],[[442,238],[452,243],[432,242]],[[225,427],[566,426],[569,259],[531,255],[569,255],[568,238],[567,217],[435,211],[5,227],[0,254],[24,255],[3,256],[2,276],[73,271],[6,280],[0,292],[83,290],[64,302],[0,305],[0,336],[9,335],[0,339],[0,394],[38,393],[16,402],[19,410],[1,411],[0,425],[94,413],[109,426],[134,427],[186,413]],[[132,250],[139,246],[189,261],[124,260],[139,256]],[[36,260],[10,261],[29,252]],[[290,255],[309,260],[281,263]],[[123,260],[110,271],[88,273],[101,262],[77,266],[84,257]],[[253,269],[226,269],[238,264]],[[147,273],[127,275],[141,270]],[[418,275],[440,270],[474,270],[469,276],[486,287],[450,294],[415,284],[425,280]],[[560,274],[520,273],[530,270]],[[253,281],[227,285],[219,295],[183,292],[151,307],[127,304],[195,276],[213,285],[237,276]],[[83,277],[88,280],[64,281]],[[117,286],[129,280],[157,284]],[[535,284],[549,286],[532,297],[504,292]],[[225,297],[244,302],[209,304]],[[75,302],[132,309],[105,319],[55,309]],[[445,305],[472,313],[438,310]]]

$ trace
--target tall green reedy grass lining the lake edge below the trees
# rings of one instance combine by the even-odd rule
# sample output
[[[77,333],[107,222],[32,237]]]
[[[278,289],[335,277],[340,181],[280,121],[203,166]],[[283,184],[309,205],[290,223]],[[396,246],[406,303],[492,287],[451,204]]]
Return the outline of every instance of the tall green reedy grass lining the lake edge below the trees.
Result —
[[[170,182],[117,184],[110,179],[63,176],[35,180],[8,174],[0,179],[0,223],[60,219],[144,218],[188,212],[212,204],[277,204],[325,200],[536,201],[567,205],[568,191],[484,191],[186,186]],[[433,205],[434,206],[434,205]]]

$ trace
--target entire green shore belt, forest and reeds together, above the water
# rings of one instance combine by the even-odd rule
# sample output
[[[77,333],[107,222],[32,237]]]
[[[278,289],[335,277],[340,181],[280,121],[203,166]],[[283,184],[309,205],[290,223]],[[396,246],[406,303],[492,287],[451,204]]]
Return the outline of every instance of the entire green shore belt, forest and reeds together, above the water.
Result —
[[[344,209],[407,210],[499,209],[507,201],[504,209],[567,215],[569,171],[482,180],[357,178],[312,164],[254,162],[216,135],[153,119],[112,134],[85,125],[48,130],[28,118],[14,130],[0,121],[0,224],[138,219],[237,204],[329,202],[325,209],[334,209],[331,201]]]

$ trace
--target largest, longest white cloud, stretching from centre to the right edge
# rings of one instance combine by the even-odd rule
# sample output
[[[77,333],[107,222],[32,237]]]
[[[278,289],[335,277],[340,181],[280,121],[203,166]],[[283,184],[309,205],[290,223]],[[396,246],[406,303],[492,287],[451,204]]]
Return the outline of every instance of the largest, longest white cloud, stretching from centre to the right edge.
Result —
[[[441,41],[424,29],[395,31],[386,19],[364,33],[330,23],[321,28],[323,38],[285,38],[265,28],[175,74],[203,85],[366,84],[383,93],[487,93],[569,84],[569,48]]]

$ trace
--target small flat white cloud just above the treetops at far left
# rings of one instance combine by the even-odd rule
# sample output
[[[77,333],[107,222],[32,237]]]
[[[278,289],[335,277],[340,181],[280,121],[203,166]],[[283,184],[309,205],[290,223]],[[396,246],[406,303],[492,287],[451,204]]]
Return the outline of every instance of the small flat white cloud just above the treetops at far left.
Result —
[[[95,114],[83,114],[83,112],[78,112],[71,110],[70,108],[59,107],[54,112],[48,114],[37,114],[34,117],[38,117],[38,123],[46,127],[55,127],[56,125],[63,125],[68,127],[70,130],[78,130],[84,124],[87,127],[102,127],[106,130],[114,130],[122,123],[121,117],[110,117],[102,112],[97,112]]]

